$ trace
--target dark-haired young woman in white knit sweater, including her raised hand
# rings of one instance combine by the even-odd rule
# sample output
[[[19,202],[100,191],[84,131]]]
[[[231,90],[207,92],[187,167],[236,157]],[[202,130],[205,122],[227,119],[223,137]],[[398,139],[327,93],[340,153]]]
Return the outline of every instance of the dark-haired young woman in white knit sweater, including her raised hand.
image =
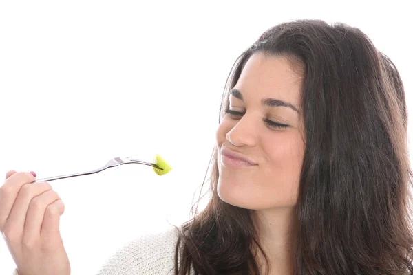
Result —
[[[264,32],[231,70],[216,141],[207,208],[100,275],[413,274],[405,91],[359,29]],[[70,274],[59,196],[30,173],[6,178],[0,230],[19,275]]]

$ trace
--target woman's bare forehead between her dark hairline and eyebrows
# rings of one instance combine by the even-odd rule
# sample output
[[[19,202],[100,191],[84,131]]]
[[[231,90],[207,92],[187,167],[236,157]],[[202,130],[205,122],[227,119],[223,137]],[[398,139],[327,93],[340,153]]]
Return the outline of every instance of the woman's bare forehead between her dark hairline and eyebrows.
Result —
[[[298,107],[303,79],[285,56],[258,52],[244,65],[234,89],[240,90],[246,100],[275,98]]]

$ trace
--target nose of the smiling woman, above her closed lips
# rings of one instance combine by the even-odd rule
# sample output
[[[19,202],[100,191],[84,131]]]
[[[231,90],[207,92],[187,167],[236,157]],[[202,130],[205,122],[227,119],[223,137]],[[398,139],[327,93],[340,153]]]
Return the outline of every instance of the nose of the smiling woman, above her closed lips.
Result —
[[[251,121],[244,118],[238,121],[233,128],[226,133],[226,140],[234,146],[254,146],[257,141],[257,129]]]

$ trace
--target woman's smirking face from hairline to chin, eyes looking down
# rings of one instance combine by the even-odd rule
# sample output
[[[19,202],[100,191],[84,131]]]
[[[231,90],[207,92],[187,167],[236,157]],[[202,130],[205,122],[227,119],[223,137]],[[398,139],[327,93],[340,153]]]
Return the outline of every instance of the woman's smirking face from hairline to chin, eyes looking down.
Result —
[[[283,56],[255,53],[244,66],[216,133],[218,195],[226,203],[254,210],[295,206],[304,157],[302,81]]]

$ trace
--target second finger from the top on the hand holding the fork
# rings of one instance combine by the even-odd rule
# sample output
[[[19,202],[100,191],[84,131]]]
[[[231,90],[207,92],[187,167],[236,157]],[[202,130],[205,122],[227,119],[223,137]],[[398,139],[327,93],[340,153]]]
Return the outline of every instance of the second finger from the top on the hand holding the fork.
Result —
[[[17,195],[16,201],[10,211],[10,216],[4,225],[5,230],[8,230],[9,234],[12,234],[14,239],[21,238],[23,234],[25,218],[30,201],[32,201],[34,197],[51,189],[52,186],[47,182],[35,182],[34,184],[25,184],[21,187],[19,195]]]

